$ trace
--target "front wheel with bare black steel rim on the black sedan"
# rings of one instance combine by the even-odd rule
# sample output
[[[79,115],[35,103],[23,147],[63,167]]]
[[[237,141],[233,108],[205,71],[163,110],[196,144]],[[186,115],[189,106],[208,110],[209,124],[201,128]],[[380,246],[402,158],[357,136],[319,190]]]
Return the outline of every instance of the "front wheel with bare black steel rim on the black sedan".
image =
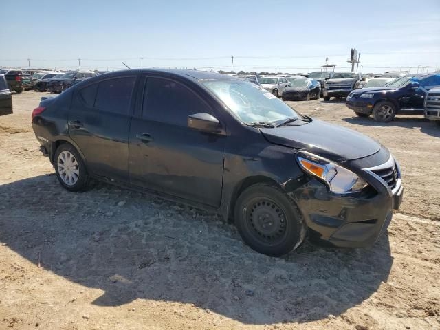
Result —
[[[296,249],[305,236],[305,225],[293,201],[274,184],[254,184],[236,201],[236,228],[256,252],[282,256]]]

